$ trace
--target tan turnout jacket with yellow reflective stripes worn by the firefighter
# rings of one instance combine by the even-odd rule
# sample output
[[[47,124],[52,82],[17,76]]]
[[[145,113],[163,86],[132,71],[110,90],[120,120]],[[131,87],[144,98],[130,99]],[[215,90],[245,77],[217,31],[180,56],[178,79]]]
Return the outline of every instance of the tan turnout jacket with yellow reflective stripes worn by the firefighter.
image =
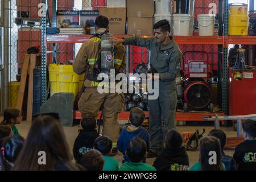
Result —
[[[100,28],[96,34],[105,32],[106,28]],[[89,77],[93,75],[93,65],[96,63],[100,50],[99,46],[101,39],[98,37],[92,37],[88,42],[82,44],[76,59],[73,63],[73,71],[78,75],[82,75],[86,72],[86,67],[89,65],[88,76],[84,81],[85,87],[98,86],[99,82],[89,80]],[[115,73],[123,73],[126,67],[126,53],[125,47],[122,44],[114,46],[114,65]]]

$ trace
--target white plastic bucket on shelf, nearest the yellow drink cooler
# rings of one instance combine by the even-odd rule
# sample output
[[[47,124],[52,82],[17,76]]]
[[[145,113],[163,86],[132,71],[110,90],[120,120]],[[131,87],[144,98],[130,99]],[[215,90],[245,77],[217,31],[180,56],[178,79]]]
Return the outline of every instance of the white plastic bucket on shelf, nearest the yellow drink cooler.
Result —
[[[199,36],[214,35],[214,14],[201,14],[197,16]]]

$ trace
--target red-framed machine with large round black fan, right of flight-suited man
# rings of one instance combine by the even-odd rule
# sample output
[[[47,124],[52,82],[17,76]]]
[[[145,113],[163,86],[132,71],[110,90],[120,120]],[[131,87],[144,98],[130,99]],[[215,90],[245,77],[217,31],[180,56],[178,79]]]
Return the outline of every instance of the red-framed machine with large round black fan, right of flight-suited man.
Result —
[[[188,54],[201,55],[203,60],[187,60]],[[205,51],[185,51],[183,60],[184,106],[188,109],[213,111],[211,101],[211,71],[209,56]]]

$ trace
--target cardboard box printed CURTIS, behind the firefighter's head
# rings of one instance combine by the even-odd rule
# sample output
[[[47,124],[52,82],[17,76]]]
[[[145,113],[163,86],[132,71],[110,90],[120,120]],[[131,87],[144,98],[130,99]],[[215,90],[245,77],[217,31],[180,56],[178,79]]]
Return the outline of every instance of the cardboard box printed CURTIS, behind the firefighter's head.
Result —
[[[114,35],[125,35],[126,8],[125,7],[103,7],[100,15],[109,18],[109,30]]]

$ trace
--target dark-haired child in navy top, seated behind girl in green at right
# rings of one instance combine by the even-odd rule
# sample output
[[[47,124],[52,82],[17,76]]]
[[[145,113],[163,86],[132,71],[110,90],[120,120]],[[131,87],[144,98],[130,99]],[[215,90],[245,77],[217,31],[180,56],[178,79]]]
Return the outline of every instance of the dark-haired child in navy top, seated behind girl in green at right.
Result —
[[[232,156],[226,155],[223,148],[226,144],[226,134],[222,130],[210,130],[208,136],[216,137],[221,144],[221,162],[225,164],[226,171],[237,171],[236,160]]]

